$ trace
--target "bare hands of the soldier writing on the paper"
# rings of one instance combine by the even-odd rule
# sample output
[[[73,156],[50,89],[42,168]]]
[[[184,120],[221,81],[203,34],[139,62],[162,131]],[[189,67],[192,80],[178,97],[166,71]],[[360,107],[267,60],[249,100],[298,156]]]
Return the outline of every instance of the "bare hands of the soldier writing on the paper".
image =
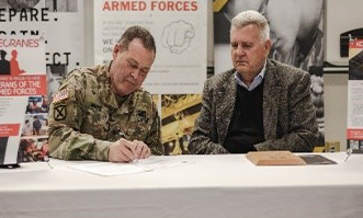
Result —
[[[148,158],[150,153],[150,149],[143,141],[128,141],[122,138],[110,147],[109,161],[128,163],[137,159]]]

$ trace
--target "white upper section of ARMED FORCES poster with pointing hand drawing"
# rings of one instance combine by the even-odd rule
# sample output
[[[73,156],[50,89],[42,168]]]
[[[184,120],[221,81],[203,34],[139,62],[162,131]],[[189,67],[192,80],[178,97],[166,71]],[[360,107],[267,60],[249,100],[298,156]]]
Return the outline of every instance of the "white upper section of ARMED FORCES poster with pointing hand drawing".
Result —
[[[94,1],[94,61],[112,59],[124,31],[140,25],[156,39],[157,55],[144,88],[151,93],[201,93],[206,79],[204,0]]]

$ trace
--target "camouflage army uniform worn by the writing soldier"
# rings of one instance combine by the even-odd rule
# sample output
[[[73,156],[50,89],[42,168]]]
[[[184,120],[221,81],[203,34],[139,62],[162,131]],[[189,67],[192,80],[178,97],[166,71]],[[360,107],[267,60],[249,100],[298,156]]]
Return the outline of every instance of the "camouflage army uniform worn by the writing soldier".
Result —
[[[151,94],[138,89],[120,97],[110,88],[110,64],[71,71],[54,95],[49,152],[65,160],[109,160],[113,141],[141,140],[162,154],[160,119]]]

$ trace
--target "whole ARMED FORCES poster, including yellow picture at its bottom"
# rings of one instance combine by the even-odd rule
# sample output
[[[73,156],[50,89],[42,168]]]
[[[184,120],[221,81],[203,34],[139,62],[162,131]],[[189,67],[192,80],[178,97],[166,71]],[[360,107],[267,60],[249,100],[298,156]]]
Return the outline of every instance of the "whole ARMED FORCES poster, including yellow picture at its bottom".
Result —
[[[188,152],[207,70],[205,0],[94,1],[94,60],[106,64],[124,31],[140,25],[156,41],[156,60],[143,88],[154,94],[166,154]]]

